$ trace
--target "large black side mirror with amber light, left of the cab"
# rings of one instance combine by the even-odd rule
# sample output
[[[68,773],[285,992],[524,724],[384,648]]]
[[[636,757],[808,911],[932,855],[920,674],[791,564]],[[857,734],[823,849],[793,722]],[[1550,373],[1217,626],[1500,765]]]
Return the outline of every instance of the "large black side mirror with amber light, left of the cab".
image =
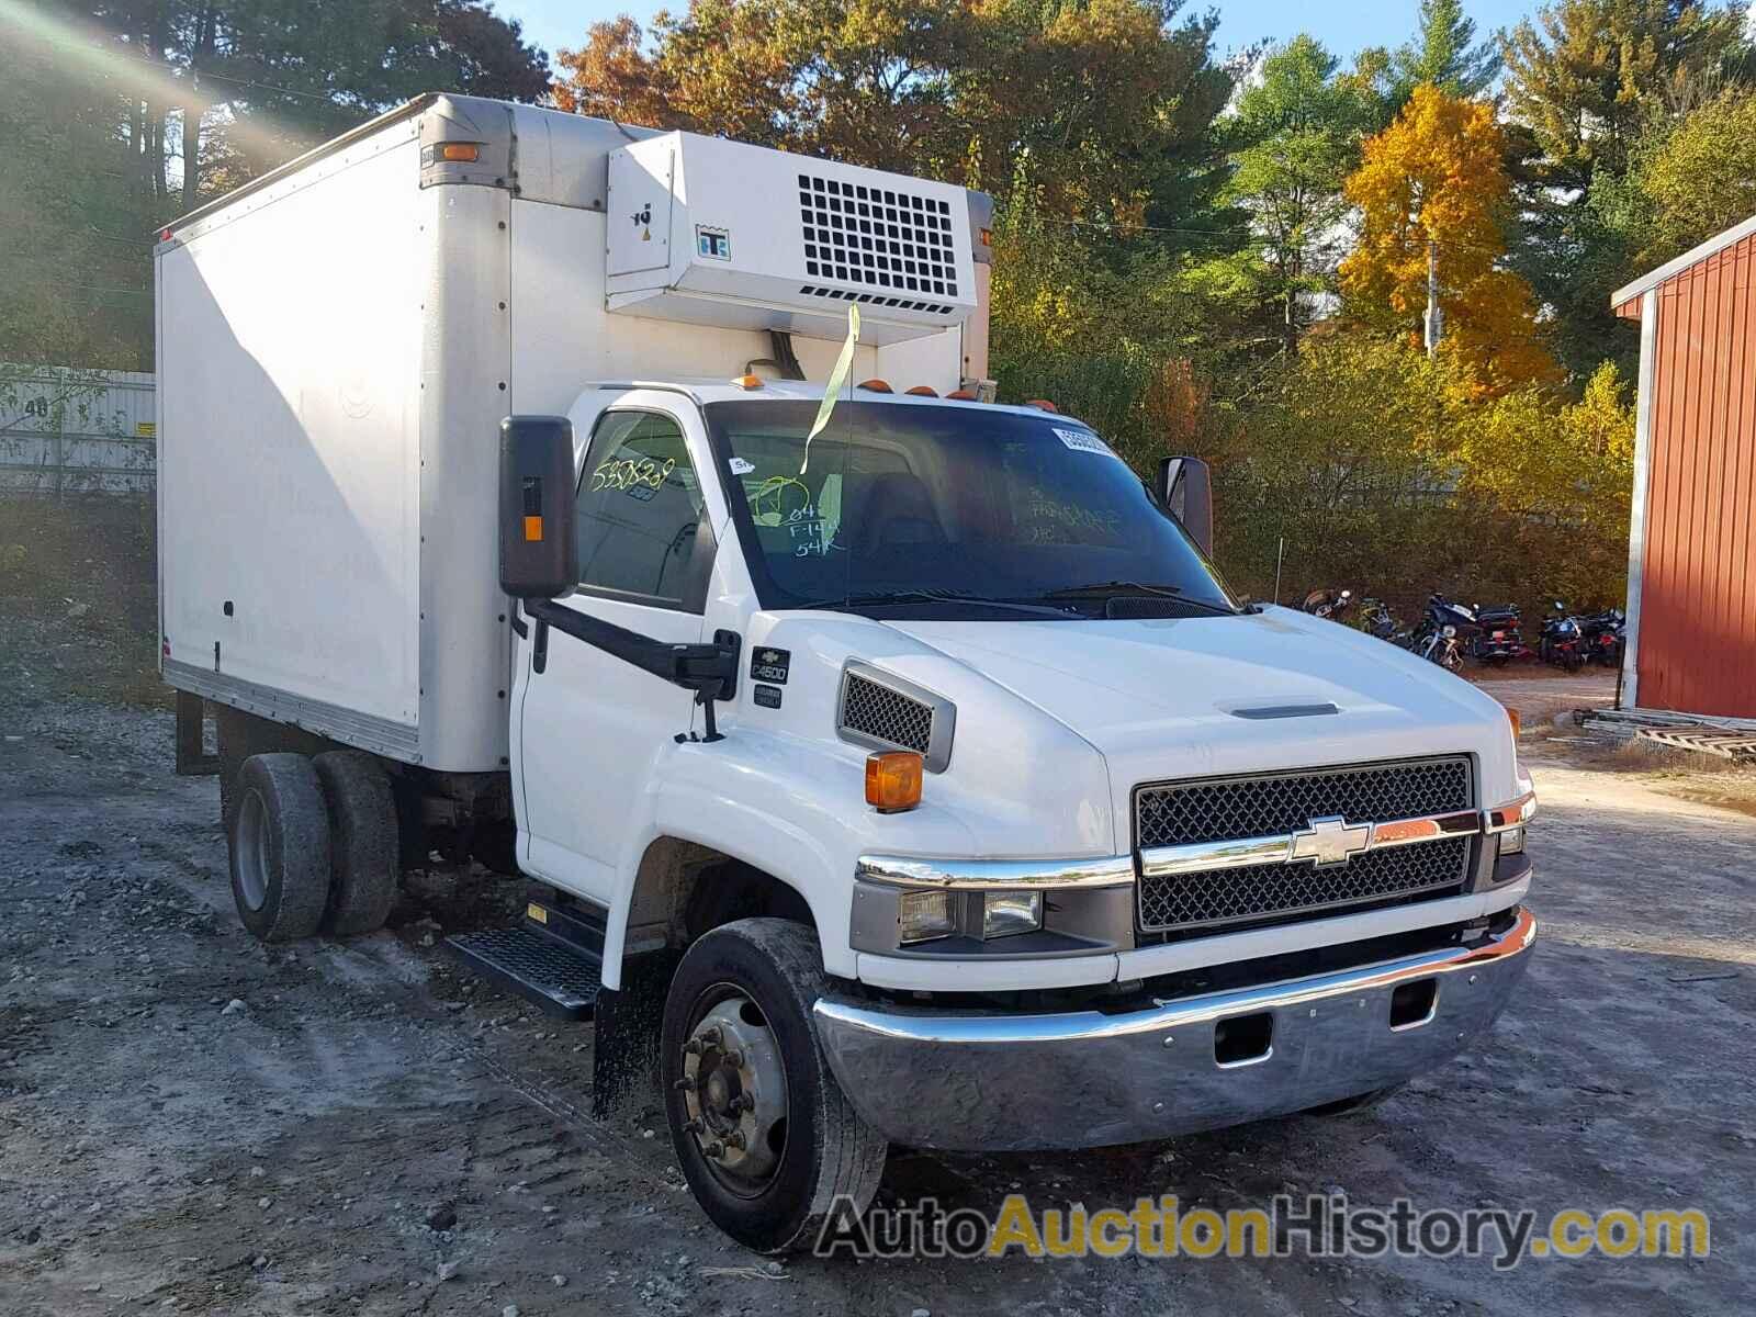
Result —
[[[579,583],[572,486],[572,421],[500,421],[500,590],[513,599],[555,599]]]

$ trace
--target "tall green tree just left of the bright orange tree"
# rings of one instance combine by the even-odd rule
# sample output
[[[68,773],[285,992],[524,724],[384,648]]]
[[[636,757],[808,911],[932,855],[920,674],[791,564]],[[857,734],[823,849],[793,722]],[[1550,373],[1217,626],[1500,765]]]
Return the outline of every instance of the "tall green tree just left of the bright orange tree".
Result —
[[[1224,197],[1249,216],[1254,242],[1222,258],[1240,284],[1271,304],[1287,351],[1331,291],[1347,239],[1342,183],[1359,163],[1375,105],[1308,35],[1263,60],[1227,121],[1231,179]]]

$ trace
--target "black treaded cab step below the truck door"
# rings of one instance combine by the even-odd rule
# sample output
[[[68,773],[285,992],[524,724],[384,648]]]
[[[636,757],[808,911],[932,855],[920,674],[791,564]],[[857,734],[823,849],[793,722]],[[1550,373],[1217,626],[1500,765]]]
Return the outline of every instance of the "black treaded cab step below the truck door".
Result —
[[[464,964],[550,1015],[588,1020],[602,990],[604,922],[588,906],[530,901],[511,929],[446,938]]]

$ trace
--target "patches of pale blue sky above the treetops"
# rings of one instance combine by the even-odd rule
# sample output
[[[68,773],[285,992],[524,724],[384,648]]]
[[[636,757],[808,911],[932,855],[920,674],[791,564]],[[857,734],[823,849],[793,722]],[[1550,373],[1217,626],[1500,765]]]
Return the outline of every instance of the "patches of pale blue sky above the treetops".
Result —
[[[1494,28],[1512,26],[1536,4],[1470,0],[1466,11],[1486,37]],[[493,7],[504,18],[523,23],[525,40],[553,54],[562,46],[583,46],[585,30],[599,19],[632,14],[644,23],[658,9],[687,9],[688,0],[497,0]],[[1192,0],[1185,12],[1206,7],[1206,0]],[[1415,0],[1213,0],[1213,7],[1220,12],[1215,44],[1222,54],[1257,40],[1285,40],[1308,32],[1345,61],[1363,46],[1400,46],[1415,26]]]

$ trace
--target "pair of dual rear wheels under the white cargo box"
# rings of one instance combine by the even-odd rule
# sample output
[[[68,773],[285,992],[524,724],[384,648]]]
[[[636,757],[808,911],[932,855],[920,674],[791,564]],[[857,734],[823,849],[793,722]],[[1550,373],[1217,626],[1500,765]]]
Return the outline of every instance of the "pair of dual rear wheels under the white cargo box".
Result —
[[[251,755],[232,792],[232,897],[263,941],[383,927],[397,896],[397,808],[371,755]]]

